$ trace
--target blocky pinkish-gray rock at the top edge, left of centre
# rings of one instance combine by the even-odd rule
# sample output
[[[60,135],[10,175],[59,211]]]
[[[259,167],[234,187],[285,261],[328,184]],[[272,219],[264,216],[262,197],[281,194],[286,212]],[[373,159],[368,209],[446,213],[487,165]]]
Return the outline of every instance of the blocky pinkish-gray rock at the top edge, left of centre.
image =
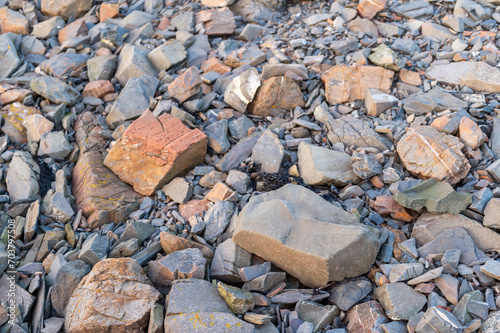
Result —
[[[208,9],[196,14],[196,25],[203,24],[205,35],[232,35],[236,29],[233,12],[227,8]]]

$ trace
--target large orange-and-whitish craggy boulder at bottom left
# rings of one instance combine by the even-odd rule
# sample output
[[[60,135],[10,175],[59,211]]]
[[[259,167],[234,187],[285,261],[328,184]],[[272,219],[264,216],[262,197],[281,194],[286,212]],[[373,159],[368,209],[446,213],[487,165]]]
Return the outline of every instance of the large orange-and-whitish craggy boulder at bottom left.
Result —
[[[160,293],[133,259],[106,259],[80,282],[66,308],[66,332],[144,332]]]

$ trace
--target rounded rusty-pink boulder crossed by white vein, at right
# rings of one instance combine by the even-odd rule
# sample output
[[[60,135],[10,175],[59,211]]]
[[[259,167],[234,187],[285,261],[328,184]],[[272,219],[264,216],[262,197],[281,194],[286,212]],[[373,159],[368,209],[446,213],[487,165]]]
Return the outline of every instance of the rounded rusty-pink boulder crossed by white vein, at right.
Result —
[[[421,179],[458,183],[470,170],[462,153],[464,144],[456,137],[431,126],[410,128],[397,145],[404,167]]]

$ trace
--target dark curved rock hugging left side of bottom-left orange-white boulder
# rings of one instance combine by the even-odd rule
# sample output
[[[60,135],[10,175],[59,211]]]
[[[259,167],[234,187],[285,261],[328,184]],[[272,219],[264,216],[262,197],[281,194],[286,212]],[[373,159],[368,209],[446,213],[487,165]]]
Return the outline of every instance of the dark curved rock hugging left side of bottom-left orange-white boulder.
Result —
[[[64,317],[73,291],[88,273],[90,266],[81,260],[71,261],[59,270],[50,293],[50,301],[56,315]]]

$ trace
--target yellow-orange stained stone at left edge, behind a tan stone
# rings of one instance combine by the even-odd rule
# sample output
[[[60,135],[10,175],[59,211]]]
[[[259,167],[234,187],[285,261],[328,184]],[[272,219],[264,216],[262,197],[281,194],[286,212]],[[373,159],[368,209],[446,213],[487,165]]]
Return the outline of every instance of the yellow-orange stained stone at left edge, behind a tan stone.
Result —
[[[2,131],[9,136],[11,141],[16,143],[26,143],[28,138],[26,128],[23,126],[23,121],[27,116],[33,114],[42,113],[37,108],[20,103],[5,106],[0,110],[0,115],[4,119]]]

